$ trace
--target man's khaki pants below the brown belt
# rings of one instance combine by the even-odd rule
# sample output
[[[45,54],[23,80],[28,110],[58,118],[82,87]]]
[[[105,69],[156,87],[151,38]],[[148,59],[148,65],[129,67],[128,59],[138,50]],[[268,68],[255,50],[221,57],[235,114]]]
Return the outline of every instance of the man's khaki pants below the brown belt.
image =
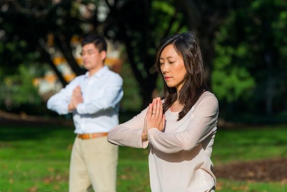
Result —
[[[70,160],[69,192],[116,192],[118,146],[107,136],[76,137]]]

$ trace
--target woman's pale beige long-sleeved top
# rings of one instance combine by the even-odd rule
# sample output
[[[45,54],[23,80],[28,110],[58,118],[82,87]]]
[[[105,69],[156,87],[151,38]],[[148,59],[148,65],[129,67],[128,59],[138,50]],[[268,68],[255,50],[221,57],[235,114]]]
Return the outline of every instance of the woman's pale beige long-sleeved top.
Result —
[[[152,192],[211,192],[216,178],[212,172],[212,145],[217,130],[218,100],[204,92],[179,121],[179,112],[165,112],[163,131],[152,128],[148,141],[141,134],[147,108],[130,121],[110,130],[108,140],[120,146],[146,148]]]

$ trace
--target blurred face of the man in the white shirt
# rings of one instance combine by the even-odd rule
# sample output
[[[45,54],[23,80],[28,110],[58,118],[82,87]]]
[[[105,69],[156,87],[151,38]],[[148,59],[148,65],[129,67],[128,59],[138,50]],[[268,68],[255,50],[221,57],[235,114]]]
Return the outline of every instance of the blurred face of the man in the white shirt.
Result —
[[[88,71],[98,70],[104,64],[106,51],[99,52],[98,48],[93,43],[88,43],[83,46],[82,59],[84,67]]]

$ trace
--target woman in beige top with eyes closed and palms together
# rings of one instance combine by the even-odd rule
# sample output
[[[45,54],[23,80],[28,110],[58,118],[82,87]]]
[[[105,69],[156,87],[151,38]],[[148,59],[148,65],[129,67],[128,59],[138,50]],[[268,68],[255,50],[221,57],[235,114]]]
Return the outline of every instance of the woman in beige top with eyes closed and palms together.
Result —
[[[214,192],[210,160],[218,100],[203,81],[203,62],[193,33],[165,39],[156,55],[164,101],[153,100],[130,121],[110,130],[120,146],[146,148],[152,192]]]

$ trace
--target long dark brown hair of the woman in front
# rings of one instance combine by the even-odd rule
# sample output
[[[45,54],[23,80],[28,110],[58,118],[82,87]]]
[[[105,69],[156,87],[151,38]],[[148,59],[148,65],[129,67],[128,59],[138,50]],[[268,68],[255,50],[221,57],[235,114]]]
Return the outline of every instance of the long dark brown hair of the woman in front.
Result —
[[[184,77],[183,86],[179,91],[179,95],[177,95],[177,89],[175,87],[168,87],[164,81],[163,111],[166,112],[178,97],[179,103],[184,105],[178,115],[177,121],[179,121],[197,102],[200,95],[207,90],[207,86],[204,83],[202,54],[197,42],[197,38],[192,32],[173,35],[164,39],[160,44],[156,54],[155,67],[161,74],[163,80],[164,77],[160,70],[159,59],[163,49],[170,44],[174,46],[177,54],[182,57],[186,69],[186,74]]]

